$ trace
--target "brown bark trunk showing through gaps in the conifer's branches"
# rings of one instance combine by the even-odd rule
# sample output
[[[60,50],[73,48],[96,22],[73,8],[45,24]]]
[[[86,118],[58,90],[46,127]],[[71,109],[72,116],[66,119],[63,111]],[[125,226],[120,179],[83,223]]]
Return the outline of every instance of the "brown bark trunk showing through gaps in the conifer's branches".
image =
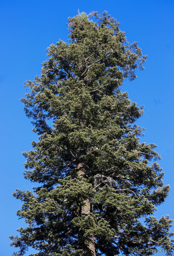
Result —
[[[79,176],[85,176],[87,172],[87,166],[84,163],[79,163],[76,166],[78,170]],[[84,177],[87,180],[87,176]],[[88,215],[91,211],[91,202],[90,199],[87,198],[84,201],[83,206],[80,209],[80,215]],[[79,249],[82,249],[83,256],[96,256],[95,252],[95,239],[94,235],[91,234],[90,236],[84,237],[84,230],[81,228],[79,229]]]

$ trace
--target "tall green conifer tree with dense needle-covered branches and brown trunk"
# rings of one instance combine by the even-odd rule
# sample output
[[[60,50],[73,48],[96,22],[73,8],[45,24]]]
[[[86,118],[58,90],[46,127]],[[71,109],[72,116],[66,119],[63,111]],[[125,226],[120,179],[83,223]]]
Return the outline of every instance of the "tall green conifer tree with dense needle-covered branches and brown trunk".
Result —
[[[39,186],[13,194],[24,201],[17,215],[28,224],[10,237],[20,247],[13,255],[28,247],[38,250],[32,256],[151,255],[139,250],[149,247],[173,255],[172,220],[153,216],[169,192],[160,155],[139,142],[142,106],[119,89],[146,56],[107,12],[68,20],[69,44],[50,45],[41,76],[27,81],[21,99],[40,135],[23,153],[24,177]]]

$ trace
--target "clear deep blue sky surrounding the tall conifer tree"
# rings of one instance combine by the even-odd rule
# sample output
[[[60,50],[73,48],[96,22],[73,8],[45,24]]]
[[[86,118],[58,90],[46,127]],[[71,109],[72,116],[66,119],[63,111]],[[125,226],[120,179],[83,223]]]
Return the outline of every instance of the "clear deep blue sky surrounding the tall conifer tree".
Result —
[[[22,151],[30,150],[37,140],[30,120],[25,116],[20,98],[26,89],[23,82],[40,75],[45,49],[60,39],[67,41],[67,18],[77,11],[108,11],[121,23],[129,42],[138,41],[148,55],[144,71],[137,70],[133,82],[126,81],[122,91],[145,105],[145,115],[137,122],[146,128],[141,141],[155,143],[165,172],[164,184],[170,184],[170,196],[155,215],[170,214],[174,219],[173,179],[173,99],[174,99],[174,1],[173,0],[88,0],[88,1],[2,1],[1,2],[1,255],[10,256],[15,248],[8,236],[26,226],[16,211],[22,204],[11,195],[16,188],[34,186],[23,178]],[[174,230],[174,228],[172,229]],[[28,256],[30,253],[26,253]],[[162,256],[163,253],[160,253]]]

